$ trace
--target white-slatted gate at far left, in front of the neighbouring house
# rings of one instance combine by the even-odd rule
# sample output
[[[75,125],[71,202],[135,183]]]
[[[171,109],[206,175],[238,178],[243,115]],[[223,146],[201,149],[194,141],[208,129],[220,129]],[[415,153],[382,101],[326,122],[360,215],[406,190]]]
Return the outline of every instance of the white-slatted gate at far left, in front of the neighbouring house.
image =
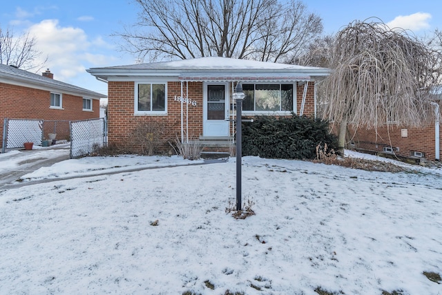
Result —
[[[3,122],[2,153],[6,149],[18,149],[23,143],[41,145],[43,120],[8,119]]]

